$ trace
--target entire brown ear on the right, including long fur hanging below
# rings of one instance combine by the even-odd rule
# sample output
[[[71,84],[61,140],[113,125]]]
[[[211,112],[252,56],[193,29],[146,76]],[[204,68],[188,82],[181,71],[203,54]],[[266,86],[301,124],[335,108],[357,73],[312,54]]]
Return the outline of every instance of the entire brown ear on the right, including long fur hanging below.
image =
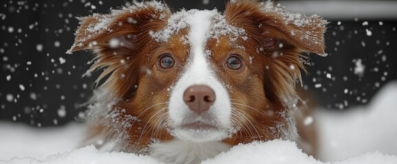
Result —
[[[328,22],[317,15],[288,12],[273,2],[258,0],[232,0],[225,18],[229,24],[245,29],[251,46],[247,53],[263,59],[267,98],[284,105],[294,101],[295,85],[302,84],[300,69],[305,70],[300,53],[326,56],[324,32]]]

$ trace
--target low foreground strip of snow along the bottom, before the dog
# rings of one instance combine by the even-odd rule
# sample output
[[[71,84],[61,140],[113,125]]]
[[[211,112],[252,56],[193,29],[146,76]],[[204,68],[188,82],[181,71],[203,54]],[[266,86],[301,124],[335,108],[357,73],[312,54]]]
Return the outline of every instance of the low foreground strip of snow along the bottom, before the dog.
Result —
[[[14,158],[10,161],[0,161],[0,164],[16,163],[41,163],[41,164],[63,164],[63,163],[117,163],[117,164],[145,164],[161,163],[150,156],[138,156],[125,152],[98,152],[94,146],[87,146],[63,154],[54,154],[41,161],[34,158]],[[313,156],[304,154],[299,150],[292,141],[274,140],[268,142],[255,142],[246,145],[239,145],[231,148],[228,152],[223,152],[214,159],[203,161],[203,164],[222,164],[222,163],[295,163],[295,164],[321,164]],[[345,161],[335,162],[333,164],[366,164],[366,163],[397,163],[397,156],[389,156],[378,152],[363,154]]]

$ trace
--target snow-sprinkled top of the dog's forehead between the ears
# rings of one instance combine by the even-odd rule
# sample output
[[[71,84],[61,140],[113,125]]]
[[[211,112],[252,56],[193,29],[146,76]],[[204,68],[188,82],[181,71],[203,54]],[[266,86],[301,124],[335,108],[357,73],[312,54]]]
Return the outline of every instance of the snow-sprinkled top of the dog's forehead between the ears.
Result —
[[[223,14],[217,10],[181,10],[170,16],[166,27],[152,33],[157,42],[168,42],[169,38],[179,31],[186,29],[188,33],[181,36],[181,42],[190,45],[190,52],[207,51],[206,43],[209,40],[218,40],[227,37],[233,44],[241,38],[247,40],[245,29],[230,25]]]

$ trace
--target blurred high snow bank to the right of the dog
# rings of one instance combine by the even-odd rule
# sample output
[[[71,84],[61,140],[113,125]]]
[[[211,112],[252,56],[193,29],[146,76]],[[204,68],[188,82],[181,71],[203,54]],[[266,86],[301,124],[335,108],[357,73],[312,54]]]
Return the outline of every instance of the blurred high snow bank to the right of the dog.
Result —
[[[320,159],[337,161],[365,152],[397,154],[397,81],[369,105],[347,111],[317,110]]]

